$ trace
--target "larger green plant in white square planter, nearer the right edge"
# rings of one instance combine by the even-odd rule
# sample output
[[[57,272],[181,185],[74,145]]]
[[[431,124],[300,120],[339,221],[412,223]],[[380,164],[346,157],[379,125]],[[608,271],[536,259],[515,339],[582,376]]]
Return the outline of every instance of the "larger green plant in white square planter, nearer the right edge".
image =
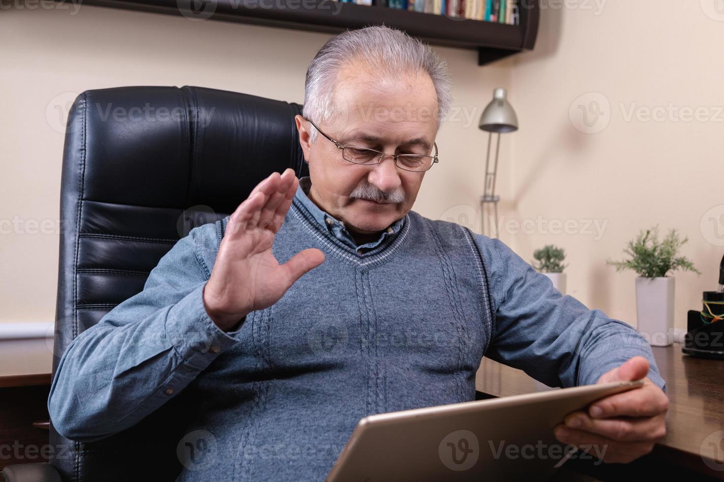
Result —
[[[607,260],[606,264],[621,270],[634,270],[636,278],[636,330],[644,335],[649,345],[668,346],[673,343],[674,329],[674,278],[668,272],[696,270],[686,257],[678,257],[678,250],[689,241],[680,239],[672,229],[663,241],[659,241],[658,225],[643,230],[624,250],[628,259]]]

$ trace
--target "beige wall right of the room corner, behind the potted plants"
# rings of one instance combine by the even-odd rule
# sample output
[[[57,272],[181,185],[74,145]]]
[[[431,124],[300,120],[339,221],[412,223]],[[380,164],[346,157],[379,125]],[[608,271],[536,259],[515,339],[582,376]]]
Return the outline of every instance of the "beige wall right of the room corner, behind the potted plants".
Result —
[[[521,130],[506,213],[607,225],[598,240],[535,232],[515,236],[514,248],[531,259],[543,244],[565,247],[568,292],[635,325],[636,274],[605,259],[620,259],[641,228],[678,228],[689,236],[683,254],[702,271],[675,274],[675,326],[686,329],[686,311],[717,288],[724,254],[724,12],[717,17],[715,0],[609,0],[602,9],[543,1],[539,44],[513,61]],[[592,101],[602,106],[597,124]],[[600,132],[576,129],[587,129],[579,106]]]

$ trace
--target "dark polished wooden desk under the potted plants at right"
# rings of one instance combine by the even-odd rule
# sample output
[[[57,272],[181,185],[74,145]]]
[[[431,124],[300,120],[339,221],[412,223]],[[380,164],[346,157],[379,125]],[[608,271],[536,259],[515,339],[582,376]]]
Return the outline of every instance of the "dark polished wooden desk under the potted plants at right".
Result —
[[[669,479],[678,475],[691,480],[693,473],[724,480],[724,360],[684,355],[681,345],[652,347],[652,351],[669,397],[665,438],[649,455],[631,464],[594,466],[584,460],[568,460],[563,467],[593,478],[585,480]],[[476,375],[476,390],[506,397],[557,389],[521,370],[484,358]]]

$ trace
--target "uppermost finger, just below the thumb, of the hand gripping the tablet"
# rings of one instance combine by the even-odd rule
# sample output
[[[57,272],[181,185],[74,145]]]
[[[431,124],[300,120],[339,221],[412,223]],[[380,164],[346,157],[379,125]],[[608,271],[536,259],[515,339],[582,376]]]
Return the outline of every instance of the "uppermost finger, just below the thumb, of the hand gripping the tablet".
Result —
[[[602,398],[589,407],[589,415],[593,418],[607,417],[652,417],[665,413],[668,409],[668,397],[652,382],[641,388],[628,390]],[[596,408],[600,408],[597,413]]]

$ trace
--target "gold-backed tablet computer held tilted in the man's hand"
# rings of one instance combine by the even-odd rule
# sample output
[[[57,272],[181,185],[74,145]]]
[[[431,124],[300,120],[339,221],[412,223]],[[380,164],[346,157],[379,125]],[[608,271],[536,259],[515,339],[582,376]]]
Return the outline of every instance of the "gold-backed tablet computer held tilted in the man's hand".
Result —
[[[552,430],[568,413],[643,384],[582,385],[367,416],[326,480],[544,481],[576,454]]]

